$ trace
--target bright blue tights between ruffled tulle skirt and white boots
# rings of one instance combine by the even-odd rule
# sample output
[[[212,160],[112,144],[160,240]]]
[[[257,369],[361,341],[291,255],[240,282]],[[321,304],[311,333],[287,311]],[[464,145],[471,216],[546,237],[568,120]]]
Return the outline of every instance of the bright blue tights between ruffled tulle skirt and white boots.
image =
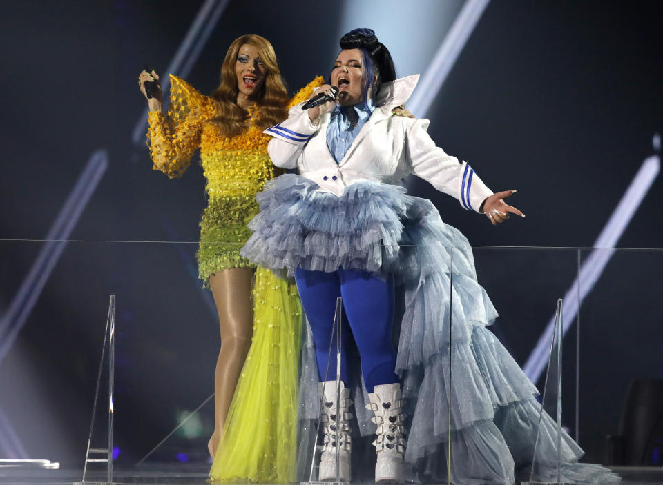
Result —
[[[394,284],[391,278],[380,279],[364,270],[345,270],[334,273],[298,268],[295,272],[302,306],[311,324],[316,345],[320,380],[336,379],[336,335],[329,359],[326,378],[327,352],[332,344],[332,325],[336,298],[343,298],[347,323],[343,319],[341,335],[340,375],[347,383],[347,338],[352,329],[354,342],[361,359],[361,374],[369,393],[379,384],[399,382],[396,375],[396,352],[392,344],[394,319]],[[349,324],[349,328],[348,325]]]

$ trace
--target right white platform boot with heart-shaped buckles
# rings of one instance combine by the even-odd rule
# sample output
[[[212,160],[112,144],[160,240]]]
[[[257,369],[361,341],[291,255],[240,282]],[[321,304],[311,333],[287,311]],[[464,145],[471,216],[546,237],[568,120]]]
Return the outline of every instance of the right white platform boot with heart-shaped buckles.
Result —
[[[375,386],[368,395],[366,405],[375,414],[373,422],[378,425],[377,438],[373,442],[377,461],[376,482],[403,482],[403,456],[405,455],[405,415],[401,399],[401,384]]]

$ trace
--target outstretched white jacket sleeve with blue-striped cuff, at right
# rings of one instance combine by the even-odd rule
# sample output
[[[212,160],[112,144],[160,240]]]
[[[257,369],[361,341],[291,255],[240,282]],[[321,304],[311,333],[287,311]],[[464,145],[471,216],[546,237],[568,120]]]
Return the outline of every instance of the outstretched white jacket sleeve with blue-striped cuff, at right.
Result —
[[[412,172],[437,190],[456,197],[463,208],[479,212],[492,190],[466,162],[459,162],[435,145],[427,133],[429,124],[427,119],[417,119],[407,130],[407,155]]]

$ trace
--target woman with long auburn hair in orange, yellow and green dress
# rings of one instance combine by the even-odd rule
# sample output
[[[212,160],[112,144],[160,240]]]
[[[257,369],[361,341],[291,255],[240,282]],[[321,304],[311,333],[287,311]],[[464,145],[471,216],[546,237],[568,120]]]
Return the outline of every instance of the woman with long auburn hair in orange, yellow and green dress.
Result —
[[[156,83],[156,95],[148,97],[153,169],[180,177],[200,148],[209,198],[198,268],[212,291],[221,334],[210,475],[219,481],[291,482],[302,311],[294,285],[256,270],[240,249],[250,236],[247,222],[259,212],[256,193],[278,175],[267,155],[270,137],[262,130],[286,119],[289,106],[310,97],[322,79],[288,99],[273,47],[258,35],[231,43],[220,86],[209,97],[171,75],[167,115],[158,79],[154,71],[139,77],[144,95],[145,83]]]

